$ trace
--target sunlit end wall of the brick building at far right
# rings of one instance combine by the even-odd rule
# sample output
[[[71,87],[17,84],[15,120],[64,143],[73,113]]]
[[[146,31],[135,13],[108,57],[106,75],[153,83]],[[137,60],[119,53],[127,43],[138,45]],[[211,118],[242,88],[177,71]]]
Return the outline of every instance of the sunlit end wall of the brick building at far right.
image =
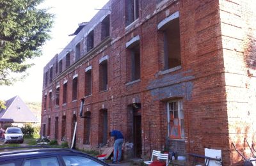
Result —
[[[249,158],[255,140],[255,1],[221,1],[221,38],[225,64],[225,90],[229,140]],[[230,165],[239,165],[240,156],[231,148]]]

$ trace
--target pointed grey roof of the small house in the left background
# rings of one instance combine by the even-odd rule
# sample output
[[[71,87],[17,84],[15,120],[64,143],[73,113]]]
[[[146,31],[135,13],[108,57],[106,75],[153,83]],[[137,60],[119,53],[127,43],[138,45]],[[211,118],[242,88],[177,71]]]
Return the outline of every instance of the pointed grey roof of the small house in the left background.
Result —
[[[0,122],[37,123],[36,116],[19,96],[5,101],[6,109],[0,111]]]

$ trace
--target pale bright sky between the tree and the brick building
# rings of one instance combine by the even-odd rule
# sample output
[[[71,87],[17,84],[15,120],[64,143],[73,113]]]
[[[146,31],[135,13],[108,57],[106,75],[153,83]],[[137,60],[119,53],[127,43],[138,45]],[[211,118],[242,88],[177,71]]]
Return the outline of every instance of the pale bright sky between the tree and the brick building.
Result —
[[[22,82],[16,82],[13,86],[0,86],[0,100],[8,100],[19,95],[26,102],[42,102],[43,70],[55,54],[68,44],[74,36],[78,24],[88,22],[108,0],[46,0],[41,6],[49,8],[49,12],[55,15],[54,26],[52,27],[51,40],[42,47],[43,56],[31,59],[35,63],[27,73]]]

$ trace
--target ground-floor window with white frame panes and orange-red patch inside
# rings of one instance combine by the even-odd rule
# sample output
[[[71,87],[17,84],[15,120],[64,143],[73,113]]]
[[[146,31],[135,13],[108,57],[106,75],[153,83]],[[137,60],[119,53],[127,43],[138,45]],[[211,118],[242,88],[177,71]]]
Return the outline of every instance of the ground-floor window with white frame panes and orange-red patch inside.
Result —
[[[170,139],[184,139],[184,112],[182,101],[167,103],[168,114],[168,135]]]

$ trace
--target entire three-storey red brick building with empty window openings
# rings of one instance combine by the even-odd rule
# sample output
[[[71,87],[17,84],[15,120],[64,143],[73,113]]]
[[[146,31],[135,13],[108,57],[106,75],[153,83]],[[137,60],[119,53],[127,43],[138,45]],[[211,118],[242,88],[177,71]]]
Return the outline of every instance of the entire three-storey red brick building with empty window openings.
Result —
[[[112,0],[44,68],[42,134],[96,148],[121,130],[125,157],[255,140],[254,0]],[[253,84],[254,83],[254,84]],[[79,117],[81,98],[84,115]],[[129,152],[129,153],[128,153]],[[189,157],[187,156],[187,160]]]

